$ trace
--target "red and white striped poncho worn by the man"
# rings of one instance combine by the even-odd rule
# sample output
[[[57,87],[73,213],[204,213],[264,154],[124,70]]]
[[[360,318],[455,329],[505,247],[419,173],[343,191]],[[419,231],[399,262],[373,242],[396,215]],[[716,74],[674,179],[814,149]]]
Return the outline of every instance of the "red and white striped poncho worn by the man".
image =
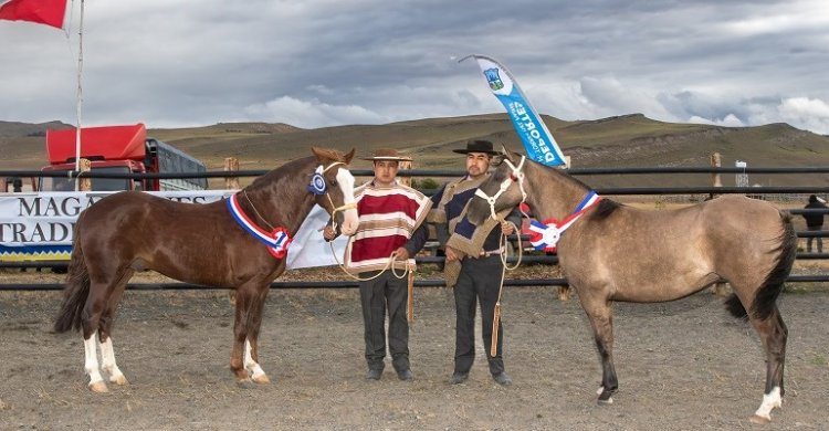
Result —
[[[354,196],[359,227],[346,249],[346,269],[353,274],[382,270],[391,252],[406,244],[423,222],[432,201],[397,182],[382,188],[368,182]],[[395,267],[403,269],[406,262],[395,262]]]

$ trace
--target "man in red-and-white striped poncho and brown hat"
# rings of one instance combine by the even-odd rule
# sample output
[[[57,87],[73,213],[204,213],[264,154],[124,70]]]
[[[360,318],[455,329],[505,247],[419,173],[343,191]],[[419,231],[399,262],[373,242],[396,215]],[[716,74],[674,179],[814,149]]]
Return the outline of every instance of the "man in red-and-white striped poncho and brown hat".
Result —
[[[391,365],[400,380],[411,380],[406,319],[408,280],[395,276],[391,267],[384,269],[391,264],[402,273],[406,261],[422,249],[428,235],[422,222],[432,202],[423,193],[397,181],[399,162],[411,161],[411,158],[400,156],[395,149],[380,148],[363,159],[374,161],[375,177],[354,192],[359,227],[348,243],[345,260],[346,270],[365,280],[359,282],[359,291],[368,362],[366,378],[379,380],[382,376],[388,307]],[[323,233],[328,241],[337,235],[330,225]],[[389,263],[392,252],[395,260]]]

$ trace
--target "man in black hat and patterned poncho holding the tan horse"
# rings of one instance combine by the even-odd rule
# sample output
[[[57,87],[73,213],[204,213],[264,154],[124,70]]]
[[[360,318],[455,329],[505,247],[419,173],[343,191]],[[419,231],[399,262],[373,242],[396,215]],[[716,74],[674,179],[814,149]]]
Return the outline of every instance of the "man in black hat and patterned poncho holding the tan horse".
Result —
[[[504,371],[503,328],[499,323],[497,353],[491,356],[492,323],[495,303],[501,288],[503,263],[500,248],[501,235],[512,234],[514,229],[507,222],[487,220],[478,230],[464,218],[466,202],[489,176],[492,156],[499,153],[489,140],[471,140],[464,149],[454,153],[466,155],[466,176],[447,183],[432,197],[434,209],[429,221],[434,223],[438,239],[445,242],[447,285],[454,285],[455,301],[455,354],[454,372],[450,382],[462,383],[469,378],[475,359],[475,309],[481,304],[482,338],[492,378],[500,385],[508,386],[512,379]],[[504,216],[503,213],[501,216]],[[508,212],[507,220],[521,225],[521,213]],[[450,236],[451,234],[451,236]],[[448,240],[445,240],[449,236]]]

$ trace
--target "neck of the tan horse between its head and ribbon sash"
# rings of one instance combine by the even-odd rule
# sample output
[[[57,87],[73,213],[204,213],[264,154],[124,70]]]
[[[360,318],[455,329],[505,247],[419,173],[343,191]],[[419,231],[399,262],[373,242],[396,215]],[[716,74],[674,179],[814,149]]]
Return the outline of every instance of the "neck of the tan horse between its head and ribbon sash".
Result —
[[[539,220],[563,220],[573,213],[590,191],[567,175],[541,165],[528,167],[525,175],[527,203]]]

